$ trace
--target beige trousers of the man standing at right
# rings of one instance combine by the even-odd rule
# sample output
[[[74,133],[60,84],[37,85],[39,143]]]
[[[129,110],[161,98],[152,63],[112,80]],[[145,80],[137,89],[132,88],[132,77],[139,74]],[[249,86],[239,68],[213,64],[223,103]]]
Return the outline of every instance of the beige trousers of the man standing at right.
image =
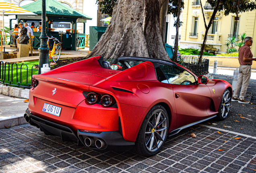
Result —
[[[239,99],[244,100],[244,97],[246,95],[246,90],[251,77],[251,71],[252,71],[251,66],[247,66],[247,65],[239,66],[239,77],[237,80],[237,84],[235,85],[235,91],[233,93],[233,97],[235,99],[237,99],[237,93],[240,87],[242,86]]]

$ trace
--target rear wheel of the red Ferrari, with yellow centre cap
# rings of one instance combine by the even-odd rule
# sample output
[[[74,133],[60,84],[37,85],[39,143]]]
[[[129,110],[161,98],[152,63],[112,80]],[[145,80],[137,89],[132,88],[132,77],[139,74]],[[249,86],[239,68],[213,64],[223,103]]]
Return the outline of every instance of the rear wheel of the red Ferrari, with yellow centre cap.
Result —
[[[158,120],[158,124],[156,124]],[[147,113],[142,122],[135,141],[135,151],[139,155],[151,157],[157,154],[165,140],[168,133],[168,114],[164,107],[155,105]]]

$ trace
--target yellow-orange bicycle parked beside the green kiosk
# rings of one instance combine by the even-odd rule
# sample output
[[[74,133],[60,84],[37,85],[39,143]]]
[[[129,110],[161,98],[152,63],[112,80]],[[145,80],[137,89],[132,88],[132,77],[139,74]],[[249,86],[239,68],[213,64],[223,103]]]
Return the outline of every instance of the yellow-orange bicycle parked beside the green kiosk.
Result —
[[[52,46],[52,50],[51,49],[49,50],[49,58],[52,59],[54,62],[57,62],[58,59],[60,58],[62,42],[60,42],[58,38],[48,37],[47,44],[49,48],[50,48],[49,46],[50,39],[54,39],[54,45]]]

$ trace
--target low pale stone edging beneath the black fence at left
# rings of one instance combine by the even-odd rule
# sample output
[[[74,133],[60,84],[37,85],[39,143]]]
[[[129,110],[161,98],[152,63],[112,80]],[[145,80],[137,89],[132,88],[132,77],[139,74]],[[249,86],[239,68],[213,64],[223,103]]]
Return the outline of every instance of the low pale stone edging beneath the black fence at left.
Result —
[[[10,87],[4,84],[0,84],[0,94],[21,99],[29,99],[29,89]]]

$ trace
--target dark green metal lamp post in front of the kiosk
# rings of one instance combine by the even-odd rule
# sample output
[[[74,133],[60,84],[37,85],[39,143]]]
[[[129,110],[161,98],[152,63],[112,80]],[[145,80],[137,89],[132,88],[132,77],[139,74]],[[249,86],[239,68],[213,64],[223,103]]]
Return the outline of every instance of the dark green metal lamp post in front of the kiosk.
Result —
[[[41,74],[41,68],[43,67],[43,64],[49,64],[49,48],[47,45],[47,34],[46,34],[46,4],[45,0],[42,0],[42,31],[41,36],[39,37],[41,39],[39,50],[39,71],[38,73]]]

